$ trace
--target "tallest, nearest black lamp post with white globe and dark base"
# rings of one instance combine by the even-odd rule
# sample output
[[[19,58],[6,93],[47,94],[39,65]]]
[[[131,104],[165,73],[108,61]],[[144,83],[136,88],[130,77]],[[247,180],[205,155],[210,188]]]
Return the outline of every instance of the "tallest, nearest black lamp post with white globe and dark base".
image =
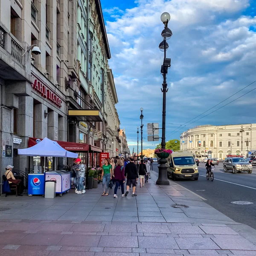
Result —
[[[161,67],[161,74],[163,75],[163,114],[162,114],[162,142],[161,142],[161,148],[165,149],[166,147],[166,93],[168,91],[167,89],[167,82],[166,82],[166,75],[168,73],[168,68],[171,67],[171,59],[166,58],[166,50],[169,48],[169,44],[166,42],[166,40],[170,39],[172,37],[172,30],[168,28],[168,22],[170,20],[171,16],[168,12],[164,12],[161,15],[161,21],[164,24],[164,29],[161,33],[163,37],[163,41],[159,44],[160,51],[164,52],[164,58],[163,58],[163,65]],[[159,172],[158,172],[158,179],[157,179],[157,185],[169,185],[169,180],[167,177],[167,160],[166,158],[160,158],[159,160],[160,166],[158,166]]]

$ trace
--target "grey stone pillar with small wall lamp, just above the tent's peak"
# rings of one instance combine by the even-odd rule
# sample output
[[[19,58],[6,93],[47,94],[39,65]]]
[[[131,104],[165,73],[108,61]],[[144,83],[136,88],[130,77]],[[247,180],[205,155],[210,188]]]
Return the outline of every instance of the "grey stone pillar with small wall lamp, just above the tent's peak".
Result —
[[[47,113],[48,108],[44,104],[35,105],[35,137],[44,139],[47,137],[47,122],[48,116],[44,118],[44,113]]]

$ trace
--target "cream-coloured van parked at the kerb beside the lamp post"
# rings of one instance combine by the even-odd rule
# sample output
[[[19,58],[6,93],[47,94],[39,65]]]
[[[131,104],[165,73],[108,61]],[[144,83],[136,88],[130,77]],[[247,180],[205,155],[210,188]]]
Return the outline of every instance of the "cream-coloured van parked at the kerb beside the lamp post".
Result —
[[[172,177],[172,180],[176,179],[195,179],[198,180],[198,166],[195,163],[195,159],[192,153],[172,152],[169,156],[170,167],[167,169],[168,177]]]

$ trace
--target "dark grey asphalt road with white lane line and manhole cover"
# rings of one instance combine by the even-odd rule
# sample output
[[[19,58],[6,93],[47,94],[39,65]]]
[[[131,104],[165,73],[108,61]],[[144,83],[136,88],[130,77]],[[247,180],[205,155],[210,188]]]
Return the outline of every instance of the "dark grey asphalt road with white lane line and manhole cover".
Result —
[[[210,206],[232,218],[234,221],[247,224],[256,229],[256,168],[253,173],[225,173],[223,162],[216,166],[214,180],[206,179],[205,163],[199,164],[199,179],[178,180],[177,184],[195,192]],[[158,172],[157,164],[154,171]],[[233,201],[249,201],[250,205],[231,204]]]

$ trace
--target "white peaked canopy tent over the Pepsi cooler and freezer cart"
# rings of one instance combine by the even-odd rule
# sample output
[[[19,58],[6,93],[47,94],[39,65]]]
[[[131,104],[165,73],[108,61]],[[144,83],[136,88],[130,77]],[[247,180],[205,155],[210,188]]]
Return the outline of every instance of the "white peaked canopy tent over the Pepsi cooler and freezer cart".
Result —
[[[67,151],[66,149],[62,148],[56,141],[49,140],[46,137],[44,140],[30,148],[18,149],[18,154],[26,155],[29,157],[44,157],[44,170],[45,157],[78,157],[78,154]]]

